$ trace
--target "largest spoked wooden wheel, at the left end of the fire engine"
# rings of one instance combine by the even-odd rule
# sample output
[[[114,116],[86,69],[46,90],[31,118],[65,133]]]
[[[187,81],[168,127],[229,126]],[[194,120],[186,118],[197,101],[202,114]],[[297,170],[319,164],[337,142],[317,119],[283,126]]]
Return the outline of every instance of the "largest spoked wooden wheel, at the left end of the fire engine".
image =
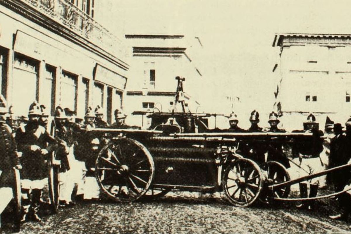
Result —
[[[119,202],[131,202],[143,196],[151,185],[154,171],[147,148],[128,138],[108,142],[99,152],[95,164],[100,188]]]

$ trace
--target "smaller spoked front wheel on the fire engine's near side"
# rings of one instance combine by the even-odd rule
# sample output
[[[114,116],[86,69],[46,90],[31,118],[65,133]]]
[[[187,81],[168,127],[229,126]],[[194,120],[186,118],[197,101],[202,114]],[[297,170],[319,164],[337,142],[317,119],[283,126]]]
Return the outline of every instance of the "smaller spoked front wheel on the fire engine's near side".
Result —
[[[257,163],[250,159],[237,159],[225,169],[222,186],[230,203],[246,207],[258,198],[263,179]]]

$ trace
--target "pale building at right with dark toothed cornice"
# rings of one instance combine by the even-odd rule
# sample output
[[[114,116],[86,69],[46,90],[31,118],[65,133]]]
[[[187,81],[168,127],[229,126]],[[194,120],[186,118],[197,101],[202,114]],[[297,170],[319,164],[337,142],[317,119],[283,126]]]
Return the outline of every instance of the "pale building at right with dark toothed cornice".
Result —
[[[344,124],[351,114],[351,35],[278,34],[277,107],[287,129],[302,128],[309,113],[324,130],[326,116]]]

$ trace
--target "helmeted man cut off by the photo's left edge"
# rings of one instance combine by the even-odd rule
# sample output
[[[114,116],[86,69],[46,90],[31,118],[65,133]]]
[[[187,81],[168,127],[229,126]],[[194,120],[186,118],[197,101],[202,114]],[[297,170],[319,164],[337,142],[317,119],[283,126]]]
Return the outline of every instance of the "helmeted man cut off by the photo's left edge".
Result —
[[[6,123],[6,100],[0,94],[0,188],[13,187],[13,167],[21,168],[12,129]]]

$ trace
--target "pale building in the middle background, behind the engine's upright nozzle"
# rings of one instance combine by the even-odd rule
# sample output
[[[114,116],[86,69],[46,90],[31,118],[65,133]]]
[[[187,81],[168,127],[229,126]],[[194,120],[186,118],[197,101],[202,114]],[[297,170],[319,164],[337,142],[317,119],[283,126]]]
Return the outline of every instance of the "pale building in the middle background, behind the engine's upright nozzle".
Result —
[[[131,69],[124,100],[124,111],[170,112],[177,90],[176,76],[183,82],[186,111],[196,112],[200,103],[202,74],[192,60],[201,44],[197,38],[183,35],[125,35],[129,46]],[[196,52],[194,52],[196,51]],[[176,112],[183,111],[177,105]],[[128,116],[127,121],[147,125],[140,116]],[[150,124],[150,123],[149,123]]]

